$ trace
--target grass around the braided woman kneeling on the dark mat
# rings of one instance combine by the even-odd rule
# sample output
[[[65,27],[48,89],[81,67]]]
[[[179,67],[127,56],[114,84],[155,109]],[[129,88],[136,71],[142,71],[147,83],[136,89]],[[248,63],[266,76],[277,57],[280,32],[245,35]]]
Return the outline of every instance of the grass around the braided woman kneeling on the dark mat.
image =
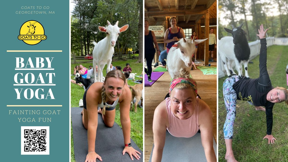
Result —
[[[122,69],[126,66],[126,63],[130,64],[133,73],[137,73],[136,76],[139,76],[143,71],[143,64],[135,63],[137,59],[128,59],[127,61],[115,61],[113,62],[113,66],[121,66]],[[92,63],[82,63],[84,67],[89,67]],[[71,64],[71,74],[73,74],[74,67],[76,64]],[[104,71],[106,71],[107,65],[104,67]],[[106,76],[106,72],[103,72],[103,75]],[[135,80],[139,80],[140,78],[135,76]],[[73,79],[75,76],[71,76]],[[128,80],[128,85],[135,85],[132,80]],[[78,107],[79,100],[83,98],[84,89],[76,84],[71,83],[71,107]],[[143,109],[138,106],[137,113],[134,111],[130,111],[130,120],[131,120],[131,138],[137,144],[137,146],[143,150]],[[119,104],[116,106],[116,116],[115,122],[120,125],[120,111]],[[121,137],[123,138],[123,137]],[[88,146],[87,146],[88,147]],[[75,162],[74,156],[74,144],[73,144],[73,128],[71,123],[71,162]]]

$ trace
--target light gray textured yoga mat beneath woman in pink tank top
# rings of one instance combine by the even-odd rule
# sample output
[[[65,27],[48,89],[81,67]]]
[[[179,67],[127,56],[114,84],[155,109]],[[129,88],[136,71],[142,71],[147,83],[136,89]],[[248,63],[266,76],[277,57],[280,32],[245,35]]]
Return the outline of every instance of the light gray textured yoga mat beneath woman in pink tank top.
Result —
[[[213,138],[213,148],[216,155],[216,142]],[[154,145],[149,162],[152,159]],[[174,137],[166,131],[165,146],[162,154],[162,162],[166,161],[207,161],[204,148],[201,143],[200,133],[190,138]]]

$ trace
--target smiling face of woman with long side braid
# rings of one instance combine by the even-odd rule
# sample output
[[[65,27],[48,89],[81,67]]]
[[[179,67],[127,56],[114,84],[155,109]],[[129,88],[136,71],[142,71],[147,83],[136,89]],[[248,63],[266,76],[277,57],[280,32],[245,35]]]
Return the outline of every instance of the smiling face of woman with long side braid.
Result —
[[[110,77],[106,79],[106,82],[103,85],[108,100],[116,101],[116,99],[120,97],[123,92],[124,83],[124,80],[121,78]]]

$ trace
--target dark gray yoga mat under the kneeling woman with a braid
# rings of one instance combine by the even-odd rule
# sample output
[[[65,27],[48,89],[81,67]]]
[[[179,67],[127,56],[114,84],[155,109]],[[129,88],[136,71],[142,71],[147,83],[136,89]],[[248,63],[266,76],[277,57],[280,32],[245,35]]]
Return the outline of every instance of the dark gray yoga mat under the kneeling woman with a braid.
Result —
[[[82,124],[81,111],[83,108],[71,108],[71,120],[73,127],[73,142],[74,142],[74,155],[76,162],[84,162],[88,152],[87,130]],[[143,152],[131,139],[132,147],[138,150],[141,155],[139,161],[143,160]],[[114,123],[113,127],[109,128],[104,125],[102,116],[98,114],[98,127],[95,141],[95,151],[101,156],[103,162],[115,161],[126,162],[132,161],[130,156],[125,153],[122,155],[124,149],[124,139],[121,127]],[[134,161],[138,161],[134,158]],[[97,159],[96,161],[100,161]]]

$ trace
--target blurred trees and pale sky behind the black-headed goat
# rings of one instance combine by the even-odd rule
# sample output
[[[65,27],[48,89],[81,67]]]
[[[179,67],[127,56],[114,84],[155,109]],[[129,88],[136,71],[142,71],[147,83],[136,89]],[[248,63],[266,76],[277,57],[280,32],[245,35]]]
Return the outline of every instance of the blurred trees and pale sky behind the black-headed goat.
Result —
[[[269,28],[269,37],[288,37],[287,13],[288,0],[219,0],[219,39],[228,35],[224,27],[231,29],[231,24],[238,27],[242,23],[249,42],[259,39],[256,33],[261,24]]]

